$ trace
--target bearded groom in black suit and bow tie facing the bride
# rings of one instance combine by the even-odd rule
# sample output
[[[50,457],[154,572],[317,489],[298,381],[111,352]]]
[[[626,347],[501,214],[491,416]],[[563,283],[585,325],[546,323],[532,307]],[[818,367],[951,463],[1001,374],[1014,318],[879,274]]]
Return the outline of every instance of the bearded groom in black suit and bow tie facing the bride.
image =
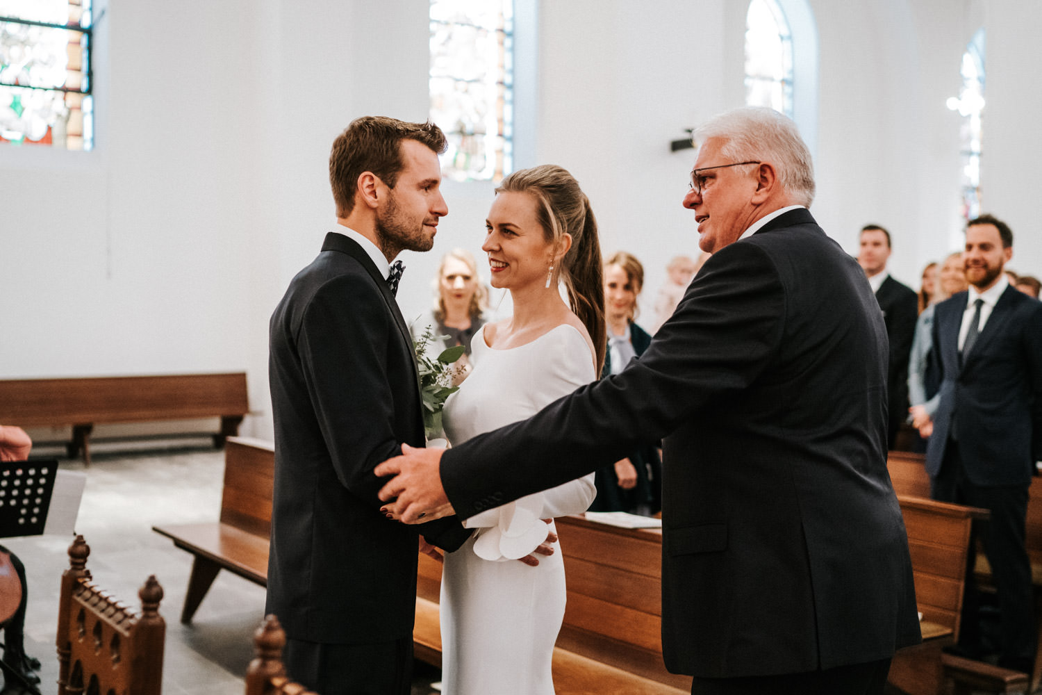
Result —
[[[323,695],[410,692],[417,530],[386,518],[375,466],[423,446],[399,251],[427,251],[448,214],[438,126],[366,117],[337,138],[336,231],[271,317],[275,491],[266,611],[289,673]],[[455,549],[454,518],[424,524]]]

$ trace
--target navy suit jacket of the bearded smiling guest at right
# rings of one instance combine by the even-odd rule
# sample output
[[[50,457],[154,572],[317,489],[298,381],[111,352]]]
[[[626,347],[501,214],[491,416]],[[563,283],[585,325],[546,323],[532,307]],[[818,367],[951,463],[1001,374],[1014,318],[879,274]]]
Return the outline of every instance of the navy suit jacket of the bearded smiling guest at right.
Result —
[[[1006,289],[976,343],[959,356],[959,331],[969,294],[934,308],[934,351],[941,372],[926,471],[944,462],[952,425],[970,481],[1031,485],[1042,461],[1042,302]]]

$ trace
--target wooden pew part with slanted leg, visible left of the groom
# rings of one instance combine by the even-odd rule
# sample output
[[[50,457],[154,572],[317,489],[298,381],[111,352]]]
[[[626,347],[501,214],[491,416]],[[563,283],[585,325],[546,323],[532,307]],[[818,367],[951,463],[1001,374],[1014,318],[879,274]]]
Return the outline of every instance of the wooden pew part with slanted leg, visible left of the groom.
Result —
[[[194,555],[181,622],[189,623],[222,570],[268,586],[275,448],[270,442],[229,437],[218,521],[153,526]]]

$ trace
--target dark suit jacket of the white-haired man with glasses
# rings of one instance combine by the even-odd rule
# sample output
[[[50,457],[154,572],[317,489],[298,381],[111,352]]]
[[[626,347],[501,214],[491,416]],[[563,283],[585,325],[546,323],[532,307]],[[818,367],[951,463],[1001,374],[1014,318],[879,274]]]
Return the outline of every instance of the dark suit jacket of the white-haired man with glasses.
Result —
[[[671,671],[887,659],[919,623],[886,467],[886,354],[865,273],[789,212],[715,253],[625,371],[449,449],[442,480],[468,517],[664,439]]]

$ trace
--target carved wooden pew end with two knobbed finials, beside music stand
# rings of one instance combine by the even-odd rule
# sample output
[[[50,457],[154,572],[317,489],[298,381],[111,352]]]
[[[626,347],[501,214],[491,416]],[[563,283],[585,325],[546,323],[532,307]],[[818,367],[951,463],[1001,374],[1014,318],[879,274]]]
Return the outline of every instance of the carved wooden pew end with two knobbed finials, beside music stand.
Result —
[[[82,536],[69,547],[58,603],[58,695],[159,695],[167,626],[159,616],[163,587],[150,576],[138,595],[141,615],[100,590],[86,569]]]

